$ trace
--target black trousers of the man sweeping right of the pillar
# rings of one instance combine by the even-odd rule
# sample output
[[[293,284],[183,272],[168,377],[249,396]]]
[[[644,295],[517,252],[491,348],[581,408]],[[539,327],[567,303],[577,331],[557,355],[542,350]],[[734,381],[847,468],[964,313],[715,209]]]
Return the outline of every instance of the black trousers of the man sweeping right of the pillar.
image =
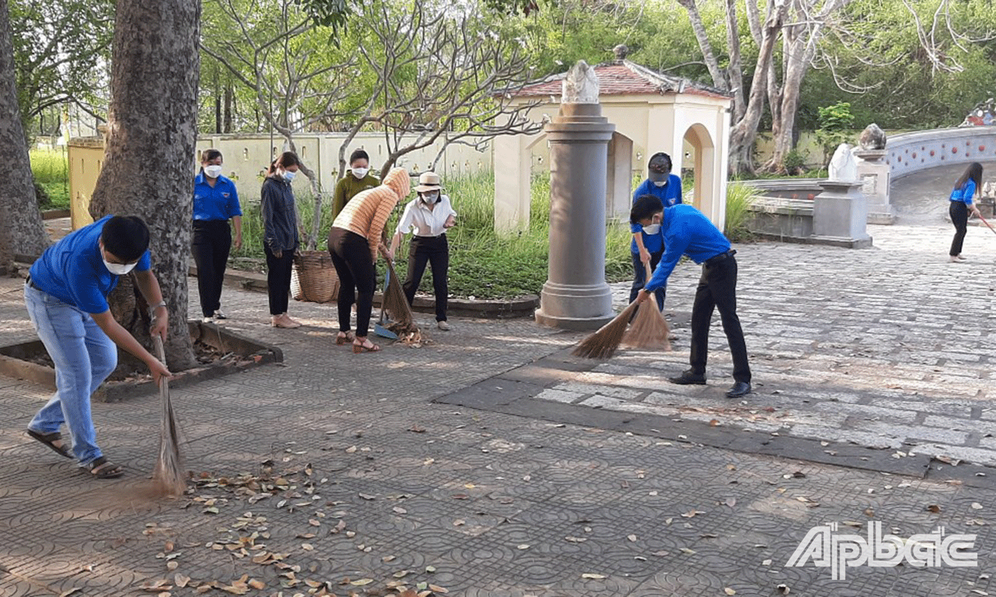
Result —
[[[723,331],[733,355],[733,379],[750,382],[750,365],[747,364],[747,345],[737,317],[737,260],[730,256],[702,264],[702,277],[695,289],[691,307],[691,370],[705,374],[705,360],[709,352],[709,322],[713,308],[719,309]]]

